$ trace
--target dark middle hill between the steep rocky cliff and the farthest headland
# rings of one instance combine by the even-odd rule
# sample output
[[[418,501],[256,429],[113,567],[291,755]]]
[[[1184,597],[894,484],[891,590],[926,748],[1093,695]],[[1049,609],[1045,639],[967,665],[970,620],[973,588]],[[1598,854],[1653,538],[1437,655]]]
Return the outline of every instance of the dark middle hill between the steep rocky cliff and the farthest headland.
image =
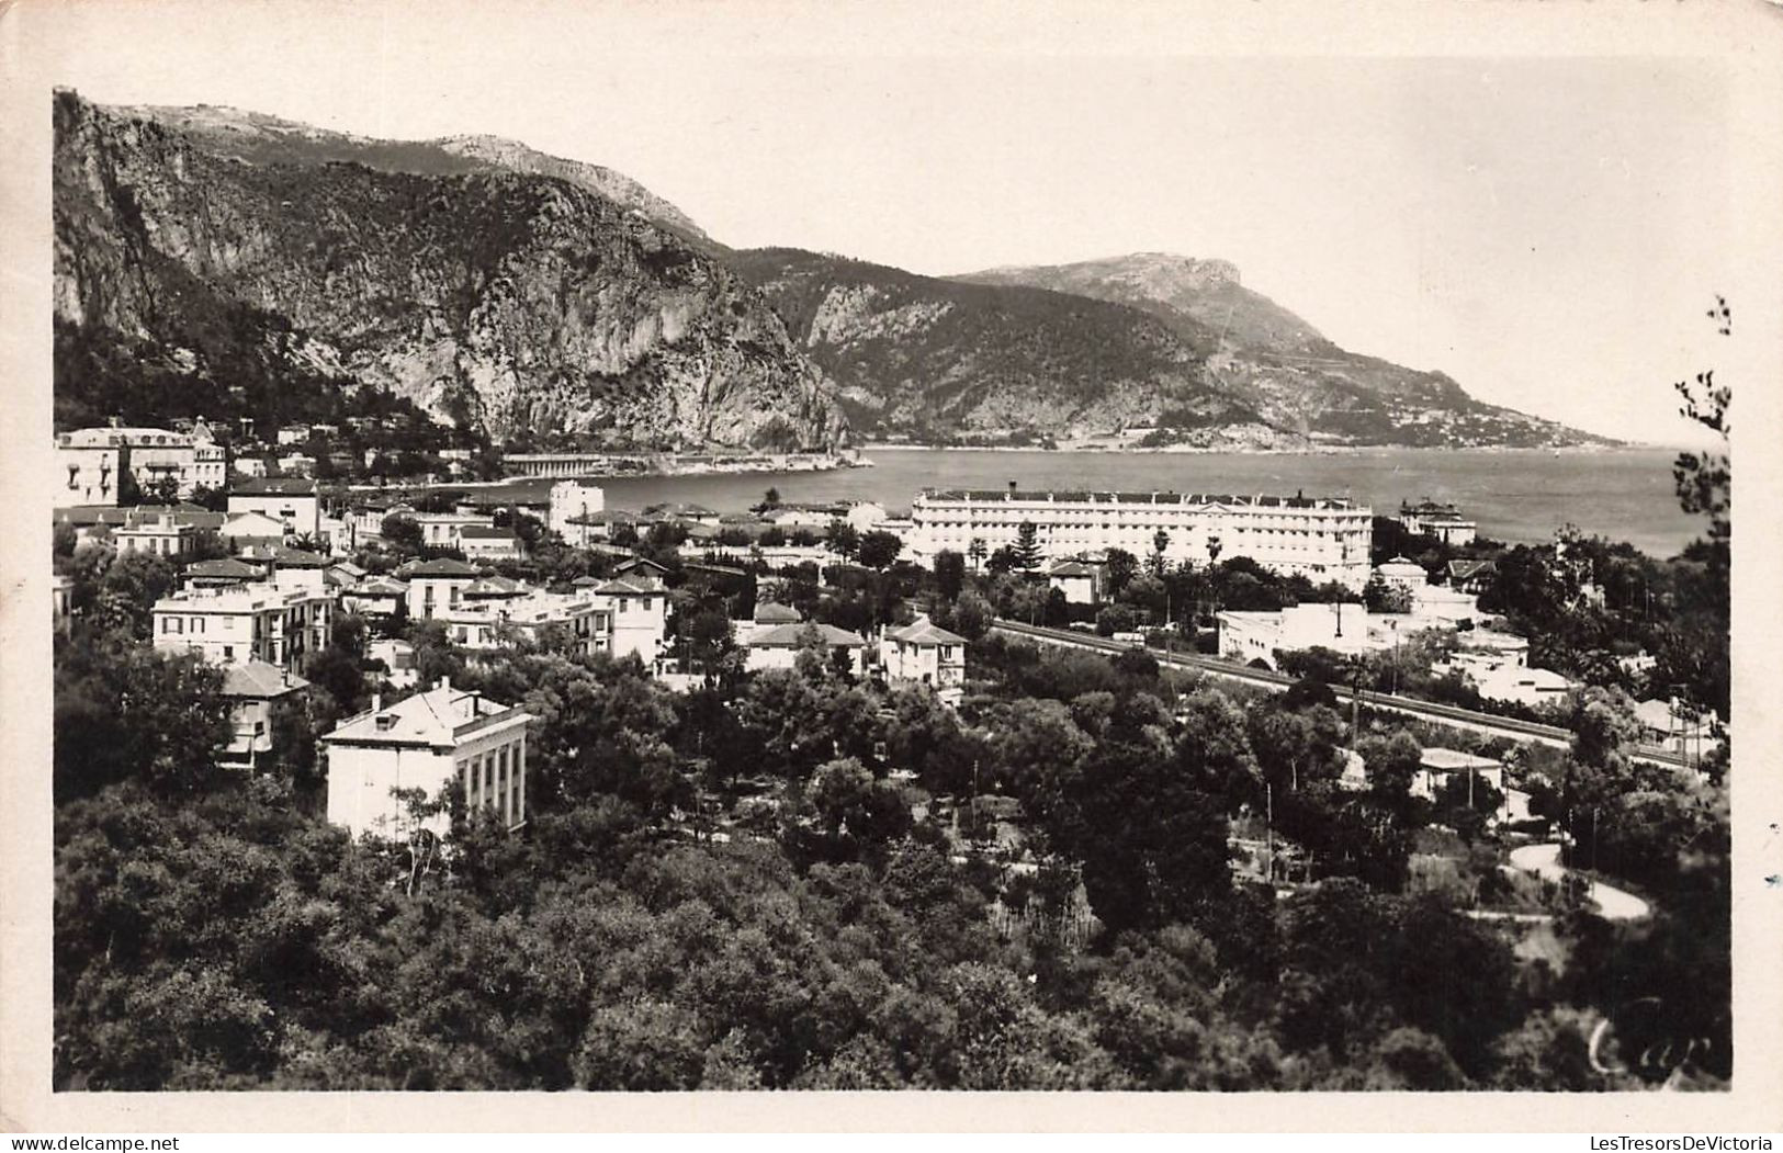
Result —
[[[834,378],[861,431],[1066,438],[1168,412],[1207,446],[1284,442],[1209,376],[1211,333],[1125,305],[790,248],[733,251],[727,262]]]

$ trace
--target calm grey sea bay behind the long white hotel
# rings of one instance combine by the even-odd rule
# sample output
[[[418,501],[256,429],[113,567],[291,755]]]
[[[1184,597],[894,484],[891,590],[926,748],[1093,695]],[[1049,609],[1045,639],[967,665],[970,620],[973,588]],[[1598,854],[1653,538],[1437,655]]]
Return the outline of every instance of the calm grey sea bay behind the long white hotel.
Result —
[[[1674,449],[1357,449],[1343,453],[1073,453],[1048,449],[915,449],[870,446],[870,467],[831,472],[731,472],[606,478],[608,508],[638,511],[686,501],[719,511],[783,501],[877,501],[893,513],[925,488],[1095,488],[1139,492],[1335,495],[1393,515],[1401,501],[1457,504],[1482,536],[1539,544],[1573,524],[1674,556],[1706,522],[1678,508]],[[549,479],[480,490],[542,501]]]

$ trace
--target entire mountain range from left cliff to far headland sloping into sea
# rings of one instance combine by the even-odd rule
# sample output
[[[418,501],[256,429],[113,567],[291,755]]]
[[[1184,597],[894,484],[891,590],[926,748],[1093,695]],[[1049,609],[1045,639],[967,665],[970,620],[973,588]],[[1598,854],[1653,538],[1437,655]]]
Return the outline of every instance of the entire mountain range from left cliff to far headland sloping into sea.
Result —
[[[1350,353],[1228,260],[924,276],[731,249],[506,137],[55,100],[59,421],[371,385],[528,444],[1606,442]]]

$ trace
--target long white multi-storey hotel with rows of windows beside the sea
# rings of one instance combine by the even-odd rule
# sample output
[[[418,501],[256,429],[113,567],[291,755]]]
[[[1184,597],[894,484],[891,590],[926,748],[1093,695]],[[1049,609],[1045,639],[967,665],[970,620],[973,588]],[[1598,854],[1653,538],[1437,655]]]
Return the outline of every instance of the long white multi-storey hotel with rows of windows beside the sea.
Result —
[[[1284,576],[1316,585],[1368,585],[1373,510],[1341,497],[1198,495],[1180,492],[1020,492],[924,488],[911,501],[911,554],[933,565],[941,549],[968,552],[974,540],[995,552],[1015,545],[1023,522],[1048,560],[1125,549],[1155,551],[1170,536],[1173,563],[1248,556]]]

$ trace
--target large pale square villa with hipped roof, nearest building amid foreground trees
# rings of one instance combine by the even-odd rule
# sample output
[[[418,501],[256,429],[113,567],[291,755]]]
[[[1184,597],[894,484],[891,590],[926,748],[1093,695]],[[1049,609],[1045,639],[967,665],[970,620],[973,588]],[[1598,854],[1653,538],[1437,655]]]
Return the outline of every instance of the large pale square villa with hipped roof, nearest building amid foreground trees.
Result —
[[[405,805],[394,789],[430,800],[453,781],[465,804],[497,813],[510,829],[526,822],[526,725],[533,718],[480,693],[437,688],[390,707],[349,716],[323,738],[328,747],[328,820],[355,836],[405,836]],[[433,832],[449,814],[426,822]]]

